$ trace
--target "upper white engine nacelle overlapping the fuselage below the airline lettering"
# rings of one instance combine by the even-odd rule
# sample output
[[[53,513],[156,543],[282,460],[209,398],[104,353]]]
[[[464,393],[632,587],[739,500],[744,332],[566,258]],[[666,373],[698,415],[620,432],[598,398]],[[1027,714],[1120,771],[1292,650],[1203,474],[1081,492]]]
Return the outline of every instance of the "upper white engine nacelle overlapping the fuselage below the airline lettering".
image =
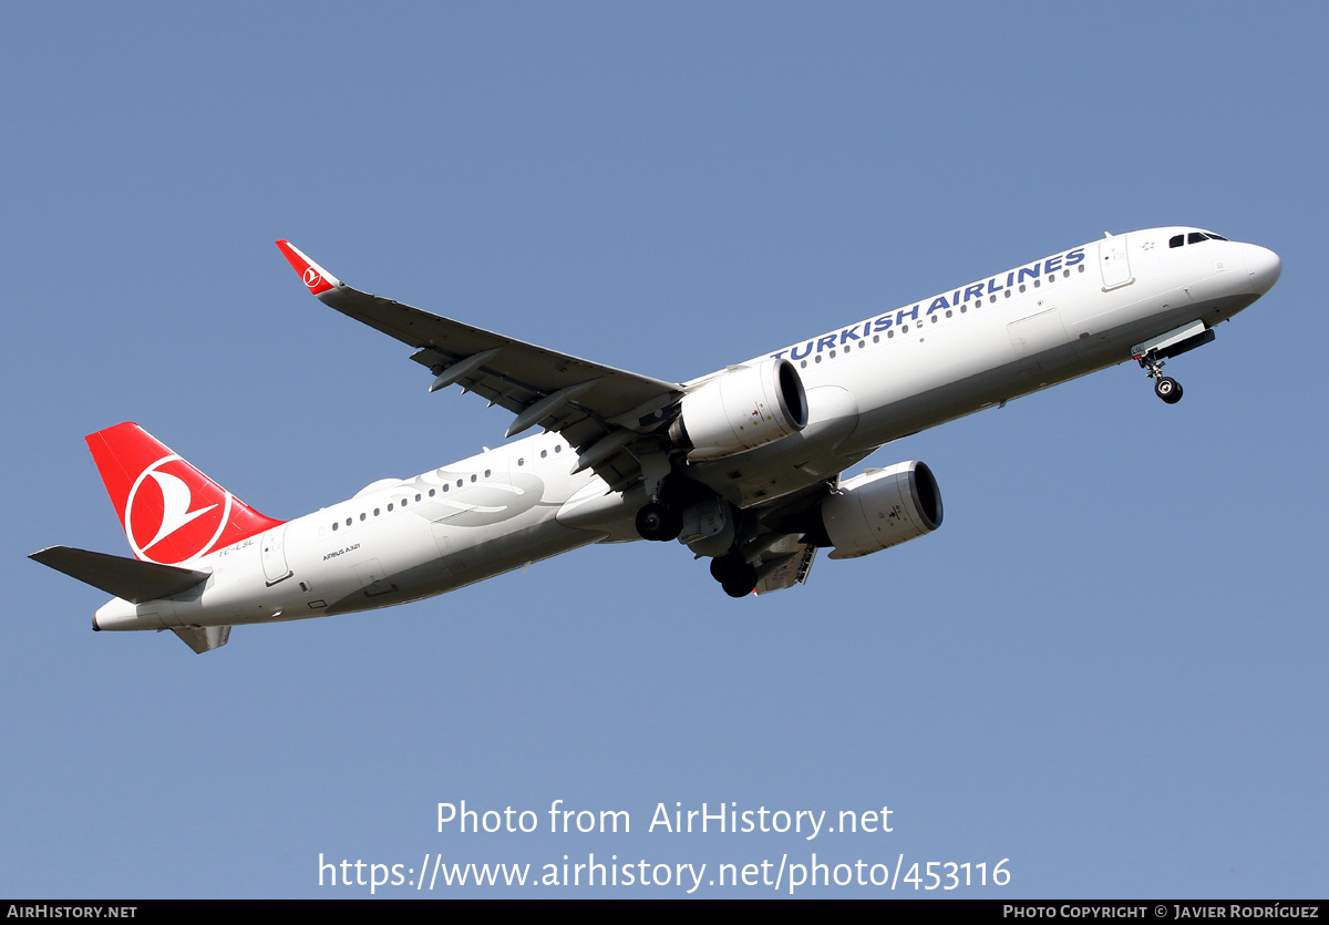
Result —
[[[797,433],[808,396],[788,360],[723,372],[683,396],[668,435],[690,460],[719,460]]]

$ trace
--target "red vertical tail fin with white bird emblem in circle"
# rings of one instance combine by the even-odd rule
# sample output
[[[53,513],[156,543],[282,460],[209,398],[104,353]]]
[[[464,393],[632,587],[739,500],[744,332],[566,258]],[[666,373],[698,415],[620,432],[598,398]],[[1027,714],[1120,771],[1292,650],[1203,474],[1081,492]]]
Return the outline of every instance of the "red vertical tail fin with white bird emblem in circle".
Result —
[[[141,560],[187,562],[282,524],[246,505],[137,424],[117,424],[86,440],[129,546]]]

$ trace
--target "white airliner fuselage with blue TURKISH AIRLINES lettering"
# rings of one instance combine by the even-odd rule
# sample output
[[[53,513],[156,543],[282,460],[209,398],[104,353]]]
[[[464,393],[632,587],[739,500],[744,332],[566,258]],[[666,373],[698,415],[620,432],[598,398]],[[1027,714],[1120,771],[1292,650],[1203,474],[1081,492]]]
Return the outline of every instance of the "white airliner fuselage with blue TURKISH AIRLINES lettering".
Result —
[[[803,377],[807,427],[694,462],[688,476],[740,508],[766,504],[898,437],[1128,360],[1158,335],[1195,322],[1213,327],[1277,279],[1278,258],[1263,247],[1168,246],[1191,231],[1104,238],[769,354]],[[611,493],[589,469],[571,474],[575,460],[567,443],[545,433],[375,482],[183,564],[211,575],[173,598],[117,598],[96,625],[227,626],[368,610],[586,544],[635,540],[643,492]]]

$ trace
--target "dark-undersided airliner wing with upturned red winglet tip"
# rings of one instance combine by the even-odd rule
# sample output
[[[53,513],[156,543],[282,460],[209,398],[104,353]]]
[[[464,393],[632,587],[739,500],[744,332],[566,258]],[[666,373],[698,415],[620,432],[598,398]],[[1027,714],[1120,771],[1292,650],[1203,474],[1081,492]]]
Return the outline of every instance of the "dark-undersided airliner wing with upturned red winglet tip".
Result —
[[[411,359],[435,375],[429,391],[460,384],[516,415],[509,437],[540,425],[557,431],[591,468],[622,490],[642,477],[634,449],[663,447],[666,409],[678,383],[615,369],[432,315],[352,288],[288,241],[278,249],[320,302],[413,347]]]

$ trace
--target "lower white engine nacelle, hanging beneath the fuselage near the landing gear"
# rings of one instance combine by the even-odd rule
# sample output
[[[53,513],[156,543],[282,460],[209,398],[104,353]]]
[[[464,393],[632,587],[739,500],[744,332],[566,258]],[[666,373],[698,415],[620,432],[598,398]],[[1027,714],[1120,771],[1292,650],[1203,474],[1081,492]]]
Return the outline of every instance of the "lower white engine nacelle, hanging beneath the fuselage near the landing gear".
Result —
[[[880,553],[941,526],[941,492],[918,461],[868,469],[821,502],[821,524],[831,558]]]

